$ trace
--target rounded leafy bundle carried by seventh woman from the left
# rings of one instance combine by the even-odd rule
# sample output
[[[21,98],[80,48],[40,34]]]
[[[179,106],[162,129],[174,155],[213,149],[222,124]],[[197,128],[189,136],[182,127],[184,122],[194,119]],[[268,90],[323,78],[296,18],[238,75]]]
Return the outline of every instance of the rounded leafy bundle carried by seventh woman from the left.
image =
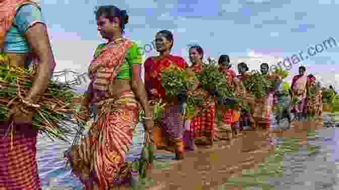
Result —
[[[257,70],[251,72],[250,80],[243,81],[243,84],[255,97],[265,97],[267,89],[274,88],[272,82]]]

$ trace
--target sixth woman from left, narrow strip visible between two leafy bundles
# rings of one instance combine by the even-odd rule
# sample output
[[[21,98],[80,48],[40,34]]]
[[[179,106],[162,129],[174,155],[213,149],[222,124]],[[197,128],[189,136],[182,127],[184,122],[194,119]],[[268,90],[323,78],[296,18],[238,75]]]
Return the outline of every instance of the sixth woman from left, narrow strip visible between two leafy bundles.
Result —
[[[243,85],[243,81],[249,79],[248,67],[245,62],[241,62],[238,64],[238,73],[239,75],[236,77],[237,89],[235,91],[235,96],[242,97],[243,99],[243,109],[241,113],[241,128],[244,130],[248,130],[251,128],[251,110],[250,105],[252,104],[251,99],[249,99],[249,92],[245,89]],[[246,109],[248,108],[248,109]]]

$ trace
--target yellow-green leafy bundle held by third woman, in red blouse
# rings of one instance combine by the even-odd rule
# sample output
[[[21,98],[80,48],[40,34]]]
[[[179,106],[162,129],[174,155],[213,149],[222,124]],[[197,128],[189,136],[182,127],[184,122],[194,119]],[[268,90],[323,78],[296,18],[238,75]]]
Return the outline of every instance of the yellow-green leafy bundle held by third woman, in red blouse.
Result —
[[[178,89],[191,89],[193,84],[194,76],[176,65],[161,71],[161,87],[166,90],[167,97],[178,97]]]

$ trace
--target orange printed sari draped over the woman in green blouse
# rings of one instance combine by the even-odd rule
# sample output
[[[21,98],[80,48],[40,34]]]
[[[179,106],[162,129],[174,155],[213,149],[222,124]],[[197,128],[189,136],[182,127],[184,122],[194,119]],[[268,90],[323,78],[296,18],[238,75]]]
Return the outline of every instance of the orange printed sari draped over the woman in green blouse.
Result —
[[[91,93],[96,94],[97,118],[80,145],[73,145],[65,153],[72,172],[86,189],[111,189],[127,182],[133,174],[126,154],[138,123],[140,103],[131,90],[113,96],[114,89],[110,88],[132,44],[127,39],[109,42],[88,68]]]

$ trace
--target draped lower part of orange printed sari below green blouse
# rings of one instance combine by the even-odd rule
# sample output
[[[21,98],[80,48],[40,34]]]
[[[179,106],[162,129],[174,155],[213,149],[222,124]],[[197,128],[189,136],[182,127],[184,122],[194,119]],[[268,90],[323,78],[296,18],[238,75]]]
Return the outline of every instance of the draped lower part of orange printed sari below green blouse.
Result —
[[[73,173],[83,183],[95,179],[88,189],[107,189],[127,182],[131,175],[126,154],[138,123],[138,101],[127,91],[117,98],[99,102],[99,115],[88,137],[72,146]],[[108,189],[109,189],[108,188]]]

